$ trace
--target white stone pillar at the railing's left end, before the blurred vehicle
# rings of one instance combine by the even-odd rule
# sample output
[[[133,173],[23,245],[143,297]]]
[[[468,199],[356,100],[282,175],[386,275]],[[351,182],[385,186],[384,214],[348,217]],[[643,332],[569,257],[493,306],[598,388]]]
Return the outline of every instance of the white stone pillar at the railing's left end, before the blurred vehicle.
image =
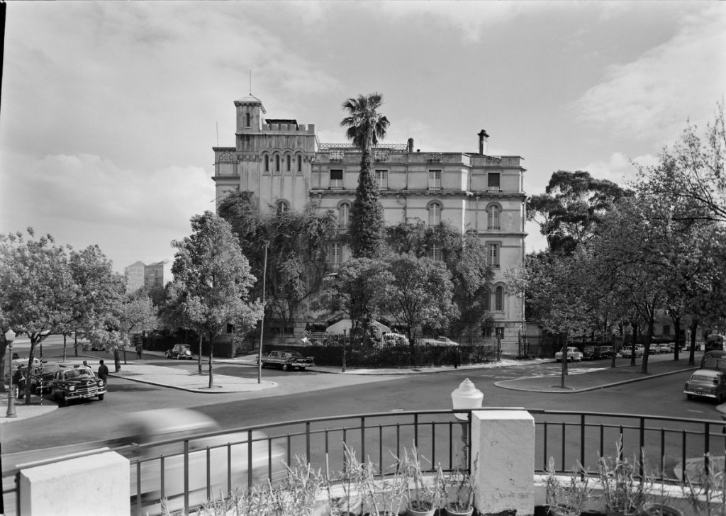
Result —
[[[20,472],[20,516],[129,516],[129,459],[115,451]]]

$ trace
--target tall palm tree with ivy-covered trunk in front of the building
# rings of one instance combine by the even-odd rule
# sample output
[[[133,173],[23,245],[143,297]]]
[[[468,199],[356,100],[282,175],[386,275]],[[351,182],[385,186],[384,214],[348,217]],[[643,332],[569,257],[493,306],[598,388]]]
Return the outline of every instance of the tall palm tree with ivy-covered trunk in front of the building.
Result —
[[[378,112],[383,95],[359,95],[343,102],[348,116],[340,125],[346,136],[361,150],[361,167],[356,198],[351,205],[351,250],[354,258],[378,258],[383,255],[383,206],[378,201],[378,182],[371,170],[371,153],[379,139],[386,136],[388,118]]]

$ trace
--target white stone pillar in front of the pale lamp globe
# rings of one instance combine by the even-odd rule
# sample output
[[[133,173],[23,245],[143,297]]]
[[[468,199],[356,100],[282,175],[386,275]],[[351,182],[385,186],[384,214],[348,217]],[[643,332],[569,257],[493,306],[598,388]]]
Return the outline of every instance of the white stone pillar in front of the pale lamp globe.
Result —
[[[471,464],[481,514],[534,514],[534,417],[524,410],[471,413]]]

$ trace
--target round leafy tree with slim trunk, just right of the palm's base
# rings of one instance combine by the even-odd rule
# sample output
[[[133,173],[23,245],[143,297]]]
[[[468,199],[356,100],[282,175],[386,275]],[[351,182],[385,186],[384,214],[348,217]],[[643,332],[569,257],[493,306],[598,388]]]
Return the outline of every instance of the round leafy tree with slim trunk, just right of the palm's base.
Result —
[[[457,307],[452,303],[451,273],[441,263],[411,254],[389,256],[386,263],[393,279],[383,292],[381,306],[406,327],[415,364],[417,330],[423,324],[446,327],[457,316]]]

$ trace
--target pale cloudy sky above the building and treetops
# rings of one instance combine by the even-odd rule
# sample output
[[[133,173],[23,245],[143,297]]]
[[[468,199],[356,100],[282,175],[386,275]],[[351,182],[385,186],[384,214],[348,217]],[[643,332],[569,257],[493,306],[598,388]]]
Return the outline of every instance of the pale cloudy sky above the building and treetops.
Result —
[[[342,103],[378,91],[386,143],[476,152],[485,129],[529,195],[558,170],[625,186],[714,119],[726,2],[8,1],[2,71],[0,233],[123,271],[214,210],[212,147],[250,92],[339,143]]]

